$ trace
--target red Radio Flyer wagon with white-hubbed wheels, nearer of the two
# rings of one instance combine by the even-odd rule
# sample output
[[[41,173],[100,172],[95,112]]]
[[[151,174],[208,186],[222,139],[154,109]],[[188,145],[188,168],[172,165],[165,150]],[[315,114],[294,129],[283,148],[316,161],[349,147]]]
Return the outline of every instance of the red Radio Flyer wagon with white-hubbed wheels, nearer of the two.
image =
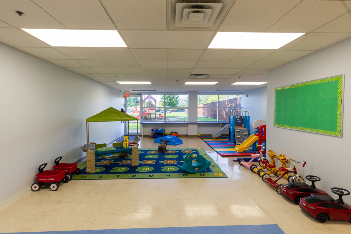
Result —
[[[55,191],[59,188],[59,183],[67,183],[69,181],[68,175],[65,175],[64,170],[61,171],[44,171],[47,162],[40,165],[38,168],[39,173],[37,176],[37,183],[33,183],[32,190],[37,192],[41,188],[42,185],[50,185],[50,189]]]

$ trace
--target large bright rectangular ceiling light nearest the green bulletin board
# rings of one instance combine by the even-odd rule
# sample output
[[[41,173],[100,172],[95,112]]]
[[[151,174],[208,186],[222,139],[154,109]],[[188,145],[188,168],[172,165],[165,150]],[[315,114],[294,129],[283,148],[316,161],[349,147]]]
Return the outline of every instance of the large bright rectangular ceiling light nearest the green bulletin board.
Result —
[[[218,32],[211,49],[279,49],[305,33]]]

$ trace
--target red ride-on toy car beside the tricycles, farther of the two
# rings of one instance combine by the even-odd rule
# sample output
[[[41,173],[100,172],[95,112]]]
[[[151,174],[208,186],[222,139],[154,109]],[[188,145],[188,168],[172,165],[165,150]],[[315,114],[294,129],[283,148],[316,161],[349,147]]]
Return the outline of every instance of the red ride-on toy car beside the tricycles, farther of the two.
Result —
[[[293,201],[296,205],[299,205],[300,199],[305,198],[306,196],[313,195],[325,195],[329,196],[322,189],[316,188],[314,182],[320,181],[318,176],[307,175],[305,178],[312,182],[312,185],[307,185],[307,183],[302,182],[289,182],[286,185],[283,185],[280,189],[282,195]]]

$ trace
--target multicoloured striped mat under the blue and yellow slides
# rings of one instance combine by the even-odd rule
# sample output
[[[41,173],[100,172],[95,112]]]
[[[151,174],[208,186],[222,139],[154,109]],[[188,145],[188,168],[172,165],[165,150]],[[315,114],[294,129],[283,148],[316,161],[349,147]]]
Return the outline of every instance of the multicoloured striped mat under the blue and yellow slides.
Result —
[[[256,153],[250,149],[246,149],[241,153],[236,152],[234,149],[236,145],[232,144],[228,138],[225,138],[223,136],[216,137],[216,140],[213,140],[212,136],[200,136],[200,138],[221,156],[242,157],[251,156],[251,154]]]

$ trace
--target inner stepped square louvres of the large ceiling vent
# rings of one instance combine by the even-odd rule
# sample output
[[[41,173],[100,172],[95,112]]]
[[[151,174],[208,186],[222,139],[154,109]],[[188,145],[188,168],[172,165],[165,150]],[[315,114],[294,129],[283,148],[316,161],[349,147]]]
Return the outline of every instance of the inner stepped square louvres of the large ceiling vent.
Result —
[[[178,2],[176,5],[176,27],[212,27],[221,3]]]

